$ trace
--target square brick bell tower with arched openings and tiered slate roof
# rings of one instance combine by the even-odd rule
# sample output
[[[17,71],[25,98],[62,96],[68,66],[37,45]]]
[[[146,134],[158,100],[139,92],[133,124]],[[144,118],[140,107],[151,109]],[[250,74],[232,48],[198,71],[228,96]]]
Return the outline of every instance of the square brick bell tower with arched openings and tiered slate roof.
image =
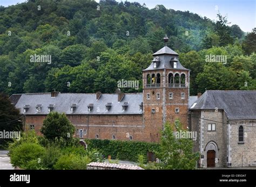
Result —
[[[179,62],[179,54],[165,46],[153,54],[150,66],[143,70],[143,108],[145,134],[158,141],[165,121],[181,121],[188,126],[190,70]]]

